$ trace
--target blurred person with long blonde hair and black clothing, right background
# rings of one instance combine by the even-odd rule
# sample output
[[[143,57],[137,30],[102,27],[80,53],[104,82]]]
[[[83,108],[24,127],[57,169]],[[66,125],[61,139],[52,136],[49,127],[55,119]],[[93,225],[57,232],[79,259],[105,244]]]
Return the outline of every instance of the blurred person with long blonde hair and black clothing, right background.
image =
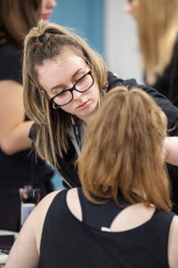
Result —
[[[178,106],[178,0],[129,0],[125,11],[136,21],[145,84]],[[177,189],[178,168],[167,167]],[[176,191],[173,199],[178,213]]]

